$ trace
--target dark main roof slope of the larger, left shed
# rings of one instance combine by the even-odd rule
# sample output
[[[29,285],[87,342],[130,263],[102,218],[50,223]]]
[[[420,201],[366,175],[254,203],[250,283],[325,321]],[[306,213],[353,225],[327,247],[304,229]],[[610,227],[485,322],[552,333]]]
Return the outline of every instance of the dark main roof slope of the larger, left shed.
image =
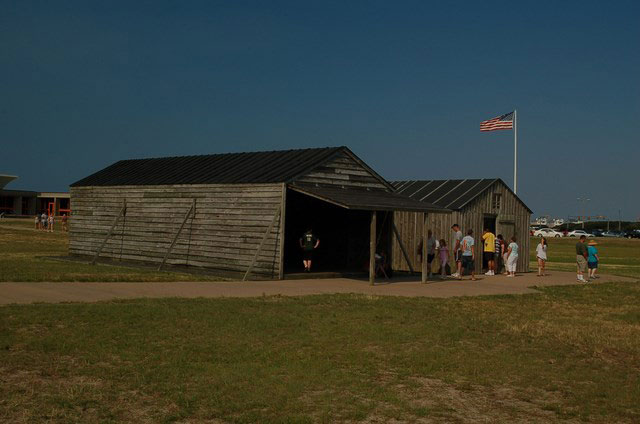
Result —
[[[71,187],[289,182],[346,147],[121,160]],[[355,155],[353,155],[355,156]]]

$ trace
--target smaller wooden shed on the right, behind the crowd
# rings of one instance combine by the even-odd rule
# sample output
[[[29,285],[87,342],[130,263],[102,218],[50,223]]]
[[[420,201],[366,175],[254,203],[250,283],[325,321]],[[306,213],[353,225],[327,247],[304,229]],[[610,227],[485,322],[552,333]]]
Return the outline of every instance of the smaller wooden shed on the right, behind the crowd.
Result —
[[[476,258],[481,258],[482,231],[489,228],[496,235],[502,234],[505,240],[513,235],[517,237],[521,252],[517,271],[529,271],[529,223],[532,211],[501,179],[395,181],[392,185],[398,194],[452,211],[430,213],[426,220],[427,229],[431,229],[438,240],[446,240],[450,251],[453,238],[451,226],[457,223],[463,234],[469,229],[474,231]],[[397,211],[394,213],[394,222],[400,238],[409,246],[410,259],[417,264],[419,257],[416,247],[420,239],[415,234],[422,234],[421,216]],[[406,260],[398,254],[398,249],[392,248],[392,252],[393,268],[408,271]],[[452,260],[451,254],[449,262]],[[485,265],[477,259],[476,272],[481,272]],[[434,269],[439,269],[437,259]]]

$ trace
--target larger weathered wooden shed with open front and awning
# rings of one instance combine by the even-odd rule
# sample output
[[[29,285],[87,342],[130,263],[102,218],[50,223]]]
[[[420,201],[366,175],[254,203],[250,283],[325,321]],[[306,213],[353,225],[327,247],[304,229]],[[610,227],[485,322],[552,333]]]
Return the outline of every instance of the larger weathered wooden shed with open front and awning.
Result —
[[[123,160],[72,184],[71,207],[72,255],[280,279],[309,228],[315,270],[373,274],[394,212],[442,211],[347,147]]]

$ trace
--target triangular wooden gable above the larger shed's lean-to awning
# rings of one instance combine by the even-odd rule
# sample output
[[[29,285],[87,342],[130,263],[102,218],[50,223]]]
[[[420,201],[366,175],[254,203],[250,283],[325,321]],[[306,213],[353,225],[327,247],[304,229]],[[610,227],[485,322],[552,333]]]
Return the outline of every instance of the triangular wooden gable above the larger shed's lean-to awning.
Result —
[[[296,178],[295,183],[389,190],[371,171],[345,152]]]

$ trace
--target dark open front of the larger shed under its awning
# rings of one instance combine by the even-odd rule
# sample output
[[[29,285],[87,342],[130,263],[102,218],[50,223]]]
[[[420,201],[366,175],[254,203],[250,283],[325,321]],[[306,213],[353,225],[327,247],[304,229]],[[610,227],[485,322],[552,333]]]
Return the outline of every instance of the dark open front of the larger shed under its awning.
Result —
[[[378,213],[379,252],[389,252],[391,215],[391,212]],[[370,211],[345,209],[312,196],[287,190],[285,274],[304,271],[299,240],[309,229],[320,239],[320,244],[313,253],[312,273],[368,272],[370,223]]]

